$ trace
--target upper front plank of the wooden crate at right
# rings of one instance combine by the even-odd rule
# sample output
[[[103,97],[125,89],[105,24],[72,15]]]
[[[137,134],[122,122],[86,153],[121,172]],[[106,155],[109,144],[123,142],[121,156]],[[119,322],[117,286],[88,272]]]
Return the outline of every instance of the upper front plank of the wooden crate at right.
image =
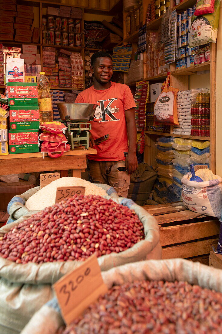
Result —
[[[174,243],[187,242],[190,240],[217,235],[219,232],[219,220],[209,220],[199,223],[161,227],[160,244],[161,246],[166,246],[172,245]]]

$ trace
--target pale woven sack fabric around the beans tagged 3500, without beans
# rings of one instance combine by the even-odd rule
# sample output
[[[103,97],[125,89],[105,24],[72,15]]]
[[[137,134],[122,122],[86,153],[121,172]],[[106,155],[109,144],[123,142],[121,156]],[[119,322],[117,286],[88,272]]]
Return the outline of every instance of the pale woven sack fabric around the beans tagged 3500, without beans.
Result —
[[[145,239],[126,251],[99,257],[98,263],[101,270],[106,271],[145,259],[160,259],[161,245],[156,219],[130,199],[110,196],[105,198],[135,211],[144,226]],[[1,227],[0,236],[25,218],[27,217]],[[33,314],[54,297],[52,284],[80,264],[79,261],[16,264],[0,257],[0,333],[20,333]]]

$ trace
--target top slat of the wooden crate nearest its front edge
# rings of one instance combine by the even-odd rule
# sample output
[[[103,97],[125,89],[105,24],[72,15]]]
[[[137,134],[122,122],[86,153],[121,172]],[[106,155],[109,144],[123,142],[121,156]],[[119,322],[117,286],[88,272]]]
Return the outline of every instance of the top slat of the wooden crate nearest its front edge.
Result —
[[[162,214],[159,216],[155,215],[155,218],[159,224],[165,225],[171,222],[173,223],[174,221],[194,219],[199,216],[202,216],[202,214],[185,209],[183,211],[171,212],[171,213]]]

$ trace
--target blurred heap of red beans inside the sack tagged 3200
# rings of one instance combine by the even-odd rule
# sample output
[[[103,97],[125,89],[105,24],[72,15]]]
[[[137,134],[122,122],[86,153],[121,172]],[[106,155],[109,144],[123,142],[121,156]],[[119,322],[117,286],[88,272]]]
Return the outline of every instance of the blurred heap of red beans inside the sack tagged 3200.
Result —
[[[218,334],[222,294],[185,282],[114,286],[60,334]]]

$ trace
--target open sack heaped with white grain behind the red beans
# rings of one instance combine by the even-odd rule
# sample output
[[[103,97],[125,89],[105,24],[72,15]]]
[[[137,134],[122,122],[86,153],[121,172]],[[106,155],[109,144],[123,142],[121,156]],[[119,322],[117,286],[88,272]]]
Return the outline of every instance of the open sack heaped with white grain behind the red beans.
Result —
[[[40,190],[40,187],[29,189],[21,195],[17,195],[11,199],[8,204],[9,219],[7,223],[11,223],[22,216],[30,216],[38,210],[42,210],[47,206],[55,203],[55,195],[57,187],[63,186],[84,186],[86,195],[95,194],[111,197],[118,197],[116,190],[107,184],[92,184],[78,177],[62,177],[53,181]],[[49,195],[50,194],[50,195]]]

